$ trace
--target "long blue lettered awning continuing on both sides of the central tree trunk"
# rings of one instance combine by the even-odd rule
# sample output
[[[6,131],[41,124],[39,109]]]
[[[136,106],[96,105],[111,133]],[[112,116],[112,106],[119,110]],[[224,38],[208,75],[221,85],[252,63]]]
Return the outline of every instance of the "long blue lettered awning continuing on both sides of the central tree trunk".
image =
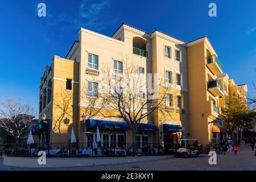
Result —
[[[88,129],[95,129],[95,128],[102,129],[102,130],[130,130],[130,126],[127,122],[119,122],[119,121],[105,121],[105,120],[98,120],[98,119],[88,119],[86,121],[86,127]],[[139,123],[138,131],[146,131],[146,132],[156,132],[157,127],[151,123]]]

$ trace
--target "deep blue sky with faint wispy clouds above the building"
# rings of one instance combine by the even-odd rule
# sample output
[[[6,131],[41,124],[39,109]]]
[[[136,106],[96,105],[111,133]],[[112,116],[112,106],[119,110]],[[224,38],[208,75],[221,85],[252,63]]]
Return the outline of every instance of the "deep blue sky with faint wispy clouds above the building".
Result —
[[[38,3],[46,3],[46,17]],[[217,5],[217,17],[208,5]],[[256,1],[1,1],[0,98],[10,96],[38,109],[40,77],[53,55],[64,57],[80,27],[112,35],[122,24],[155,29],[185,42],[207,35],[224,72],[256,96]]]

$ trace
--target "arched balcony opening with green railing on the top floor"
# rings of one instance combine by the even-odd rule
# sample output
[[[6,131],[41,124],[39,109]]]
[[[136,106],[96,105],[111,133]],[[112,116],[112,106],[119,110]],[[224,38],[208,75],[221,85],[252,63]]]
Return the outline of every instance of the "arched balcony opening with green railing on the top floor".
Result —
[[[146,51],[146,45],[147,41],[139,38],[139,37],[134,37],[133,38],[133,53],[147,57],[147,51]]]

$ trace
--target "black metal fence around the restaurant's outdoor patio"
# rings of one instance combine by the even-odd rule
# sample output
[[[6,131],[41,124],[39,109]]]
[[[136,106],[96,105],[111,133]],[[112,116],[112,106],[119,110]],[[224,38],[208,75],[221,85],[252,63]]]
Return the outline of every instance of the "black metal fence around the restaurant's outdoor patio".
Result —
[[[135,147],[136,145],[136,147]],[[34,143],[22,151],[14,151],[9,156],[38,157],[46,155],[53,158],[107,158],[124,156],[173,155],[177,148],[159,143]],[[41,151],[41,152],[40,152]]]

